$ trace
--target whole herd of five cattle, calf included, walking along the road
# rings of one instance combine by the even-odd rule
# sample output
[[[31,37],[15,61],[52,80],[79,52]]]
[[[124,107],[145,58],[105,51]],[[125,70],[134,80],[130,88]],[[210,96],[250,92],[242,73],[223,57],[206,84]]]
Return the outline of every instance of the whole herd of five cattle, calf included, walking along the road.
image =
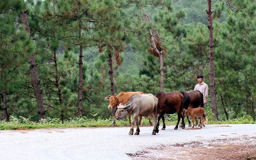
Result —
[[[129,126],[131,129],[129,135],[133,134],[133,126],[136,122],[136,132],[135,135],[139,135],[140,121],[142,117],[148,117],[150,125],[152,122],[150,116],[153,117],[153,132],[155,135],[159,132],[159,121],[162,118],[163,128],[165,130],[165,118],[164,114],[178,114],[178,122],[174,129],[178,129],[178,124],[180,119],[182,119],[181,126],[182,129],[185,128],[184,117],[188,118],[189,126],[191,126],[191,121],[189,117],[192,117],[193,127],[195,126],[194,120],[197,122],[197,117],[200,117],[200,127],[204,126],[204,120],[206,119],[206,114],[204,113],[204,103],[203,94],[198,91],[181,91],[181,92],[158,92],[156,96],[152,94],[144,94],[143,92],[120,92],[117,96],[109,96],[105,98],[109,100],[108,108],[117,108],[116,115],[112,126],[115,125],[116,119],[120,120],[128,114]],[[133,115],[133,120],[131,122],[131,114]],[[157,115],[158,121],[157,121]],[[140,116],[140,121],[138,121],[138,116]]]

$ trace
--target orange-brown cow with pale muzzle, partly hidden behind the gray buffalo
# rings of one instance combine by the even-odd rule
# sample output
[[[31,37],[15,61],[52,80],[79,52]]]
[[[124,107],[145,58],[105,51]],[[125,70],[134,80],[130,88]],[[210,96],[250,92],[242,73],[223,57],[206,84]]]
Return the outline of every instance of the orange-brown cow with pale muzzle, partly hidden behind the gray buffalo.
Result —
[[[109,109],[112,108],[116,108],[118,104],[120,103],[127,103],[128,100],[131,98],[132,95],[134,94],[144,94],[143,92],[120,92],[117,96],[110,96],[110,97],[105,97],[106,100],[109,100]],[[117,116],[117,112],[116,111],[116,115],[114,117],[114,121],[112,124],[112,127],[116,125],[116,116]],[[131,114],[128,114],[129,117],[129,126],[131,126]],[[150,120],[150,117],[148,117],[148,121],[150,123],[150,125],[152,126],[152,122]]]

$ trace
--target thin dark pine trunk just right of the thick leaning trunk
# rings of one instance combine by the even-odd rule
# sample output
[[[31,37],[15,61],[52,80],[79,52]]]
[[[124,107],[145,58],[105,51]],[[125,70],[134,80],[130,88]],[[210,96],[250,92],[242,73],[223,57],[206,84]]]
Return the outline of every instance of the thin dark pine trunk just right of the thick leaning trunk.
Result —
[[[60,106],[61,106],[61,122],[64,123],[64,111],[62,108],[62,94],[61,94],[61,88],[60,88],[60,84],[59,84],[59,71],[58,71],[58,65],[57,65],[57,58],[56,58],[56,50],[53,51],[53,60],[54,60],[54,67],[55,67],[55,85],[56,88],[58,89],[58,96],[59,96],[59,102],[60,102]]]

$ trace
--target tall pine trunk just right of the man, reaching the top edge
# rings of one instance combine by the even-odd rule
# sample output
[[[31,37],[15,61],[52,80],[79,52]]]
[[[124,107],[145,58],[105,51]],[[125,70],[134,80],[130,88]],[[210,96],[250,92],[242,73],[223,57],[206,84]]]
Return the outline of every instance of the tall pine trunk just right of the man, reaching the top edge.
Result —
[[[218,121],[218,113],[215,98],[215,86],[214,86],[214,52],[213,52],[213,40],[212,40],[212,12],[211,12],[211,0],[208,0],[208,29],[209,29],[209,81],[210,81],[210,93],[211,93],[211,106],[215,119]]]

